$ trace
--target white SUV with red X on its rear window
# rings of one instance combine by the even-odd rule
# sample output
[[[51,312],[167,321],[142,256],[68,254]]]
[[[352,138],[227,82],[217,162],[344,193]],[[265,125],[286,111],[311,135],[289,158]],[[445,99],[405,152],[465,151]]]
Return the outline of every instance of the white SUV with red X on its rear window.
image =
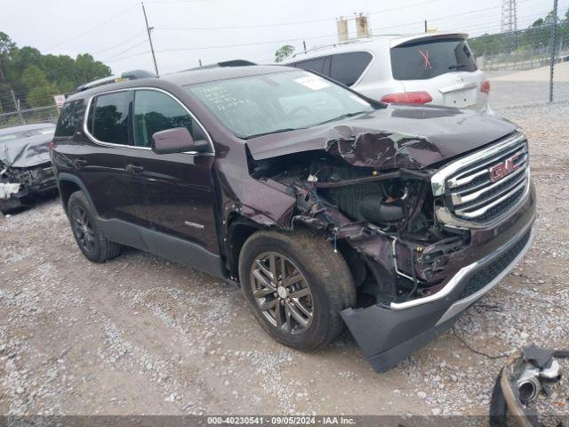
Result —
[[[284,63],[331,77],[374,100],[489,111],[490,84],[467,38],[374,36],[297,53]]]

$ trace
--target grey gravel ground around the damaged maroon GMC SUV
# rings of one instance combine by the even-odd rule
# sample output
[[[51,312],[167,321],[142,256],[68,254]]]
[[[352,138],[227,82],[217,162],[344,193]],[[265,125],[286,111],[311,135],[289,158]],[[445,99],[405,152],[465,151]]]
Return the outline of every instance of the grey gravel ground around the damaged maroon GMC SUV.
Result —
[[[569,107],[503,113],[531,141],[536,237],[455,331],[490,355],[530,342],[569,347],[569,151],[559,119]],[[4,219],[0,236],[0,414],[485,415],[503,363],[453,331],[382,375],[349,334],[316,353],[290,350],[220,280],[134,250],[88,262],[55,200]],[[566,414],[560,386],[550,414]]]

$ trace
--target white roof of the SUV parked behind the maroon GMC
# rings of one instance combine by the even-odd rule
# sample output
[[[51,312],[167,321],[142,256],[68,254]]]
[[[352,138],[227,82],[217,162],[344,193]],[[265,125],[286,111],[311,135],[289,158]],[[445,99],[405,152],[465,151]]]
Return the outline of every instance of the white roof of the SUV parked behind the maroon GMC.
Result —
[[[410,42],[417,42],[420,40],[431,40],[437,38],[468,38],[468,34],[464,33],[420,33],[420,34],[394,34],[394,35],[382,35],[382,36],[372,36],[368,38],[357,38],[354,40],[348,40],[346,42],[341,42],[337,44],[329,44],[325,46],[316,47],[310,49],[307,52],[295,53],[292,57],[284,60],[284,64],[290,64],[299,60],[309,60],[312,58],[320,58],[332,53],[343,53],[343,52],[360,52],[360,51],[375,51],[380,49],[390,49],[395,46],[402,44],[407,44]]]

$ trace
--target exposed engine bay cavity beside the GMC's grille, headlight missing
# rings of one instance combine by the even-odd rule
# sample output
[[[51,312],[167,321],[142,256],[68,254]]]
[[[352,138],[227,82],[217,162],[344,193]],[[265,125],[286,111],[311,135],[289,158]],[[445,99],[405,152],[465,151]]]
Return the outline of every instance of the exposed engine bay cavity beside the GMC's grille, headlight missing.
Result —
[[[322,151],[251,165],[252,177],[284,184],[296,197],[293,227],[303,223],[318,230],[341,251],[359,307],[437,292],[447,277],[447,255],[469,245],[469,230],[445,228],[434,215],[440,201],[430,190],[433,171],[380,171]]]

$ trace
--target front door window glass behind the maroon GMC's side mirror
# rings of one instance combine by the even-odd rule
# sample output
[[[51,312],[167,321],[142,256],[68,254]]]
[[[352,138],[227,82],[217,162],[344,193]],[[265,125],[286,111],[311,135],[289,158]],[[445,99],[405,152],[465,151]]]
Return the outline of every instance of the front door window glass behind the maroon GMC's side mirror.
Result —
[[[194,141],[205,135],[180,102],[158,91],[140,90],[134,95],[134,145],[151,147],[152,134],[185,127]]]

